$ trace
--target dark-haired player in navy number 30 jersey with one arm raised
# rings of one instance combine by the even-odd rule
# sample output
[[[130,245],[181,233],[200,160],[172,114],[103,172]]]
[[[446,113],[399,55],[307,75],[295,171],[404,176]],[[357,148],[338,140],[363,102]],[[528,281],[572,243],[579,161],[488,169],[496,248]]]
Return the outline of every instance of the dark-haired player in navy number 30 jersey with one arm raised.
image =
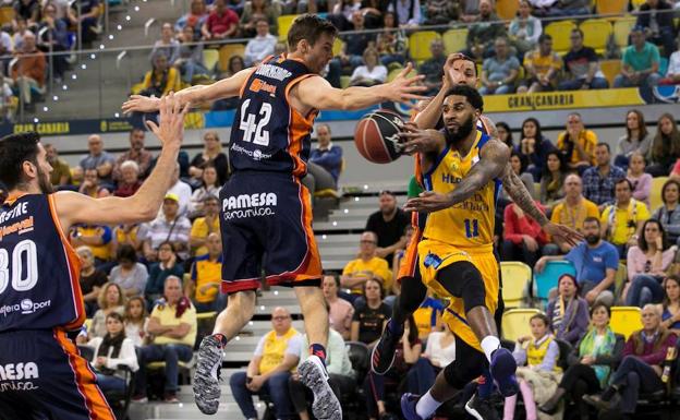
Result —
[[[40,137],[0,139],[0,419],[116,420],[96,376],[72,340],[85,321],[78,256],[69,244],[75,224],[153,219],[170,188],[186,107],[160,100],[159,165],[131,197],[52,193]]]

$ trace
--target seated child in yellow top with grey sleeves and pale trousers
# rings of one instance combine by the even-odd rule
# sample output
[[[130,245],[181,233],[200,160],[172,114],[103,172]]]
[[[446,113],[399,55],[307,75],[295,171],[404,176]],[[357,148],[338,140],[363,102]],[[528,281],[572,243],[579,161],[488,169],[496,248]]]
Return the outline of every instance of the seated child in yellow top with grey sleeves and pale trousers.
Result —
[[[518,338],[512,356],[518,364],[517,376],[526,418],[535,419],[536,404],[544,403],[544,397],[557,388],[562,370],[557,364],[559,345],[548,329],[547,316],[537,313],[529,322],[532,334]],[[506,397],[503,420],[514,419],[517,399],[517,394]]]

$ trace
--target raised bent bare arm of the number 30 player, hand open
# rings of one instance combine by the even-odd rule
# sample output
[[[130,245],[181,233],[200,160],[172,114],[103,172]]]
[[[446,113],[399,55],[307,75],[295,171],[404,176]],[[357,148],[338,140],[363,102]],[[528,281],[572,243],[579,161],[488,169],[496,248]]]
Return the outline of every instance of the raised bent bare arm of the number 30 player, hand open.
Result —
[[[75,192],[54,194],[57,214],[62,229],[74,224],[118,225],[153,219],[158,214],[166,192],[171,187],[178,154],[184,134],[184,116],[190,104],[184,106],[173,94],[160,99],[160,125],[147,122],[149,129],[160,140],[162,149],[158,164],[137,192],[126,199],[93,199]]]

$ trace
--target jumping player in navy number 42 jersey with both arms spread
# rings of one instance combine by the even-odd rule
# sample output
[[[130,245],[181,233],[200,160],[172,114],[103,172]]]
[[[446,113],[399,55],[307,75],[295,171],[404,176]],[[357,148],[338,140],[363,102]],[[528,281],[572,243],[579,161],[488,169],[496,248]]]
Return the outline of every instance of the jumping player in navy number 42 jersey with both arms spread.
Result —
[[[422,99],[418,93],[425,88],[414,84],[422,77],[405,79],[411,65],[391,83],[331,87],[319,73],[332,58],[336,36],[337,29],[328,21],[311,14],[299,16],[288,33],[288,55],[177,94],[193,104],[241,97],[229,148],[234,171],[220,193],[222,291],[229,293],[229,303],[217,319],[215,334],[201,344],[194,377],[196,405],[205,413],[218,409],[222,349],[253,316],[255,290],[264,271],[268,284],[295,287],[312,344],[312,356],[299,372],[314,393],[314,416],[342,418],[327,382],[328,312],[319,288],[321,265],[312,231],[309,193],[300,182],[306,172],[309,134],[319,110]],[[133,96],[123,110],[150,112],[156,104],[155,98]],[[248,381],[262,383],[264,379]]]

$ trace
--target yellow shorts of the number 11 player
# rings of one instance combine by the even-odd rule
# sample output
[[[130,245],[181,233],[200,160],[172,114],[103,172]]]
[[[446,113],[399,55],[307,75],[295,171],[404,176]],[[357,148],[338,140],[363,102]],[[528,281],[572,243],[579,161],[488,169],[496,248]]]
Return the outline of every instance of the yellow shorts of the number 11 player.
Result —
[[[423,284],[438,296],[449,299],[449,305],[442,317],[444,322],[459,338],[482,351],[479,340],[467,325],[463,299],[452,296],[437,280],[439,271],[460,261],[472,263],[482,274],[486,309],[493,316],[498,308],[499,289],[498,261],[494,255],[493,247],[457,248],[433,239],[424,239],[418,243],[418,263]]]

